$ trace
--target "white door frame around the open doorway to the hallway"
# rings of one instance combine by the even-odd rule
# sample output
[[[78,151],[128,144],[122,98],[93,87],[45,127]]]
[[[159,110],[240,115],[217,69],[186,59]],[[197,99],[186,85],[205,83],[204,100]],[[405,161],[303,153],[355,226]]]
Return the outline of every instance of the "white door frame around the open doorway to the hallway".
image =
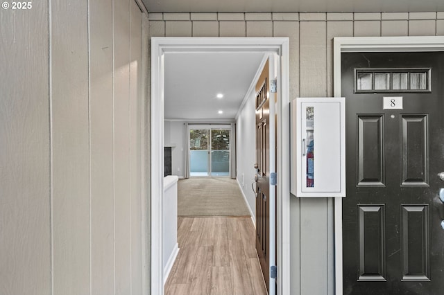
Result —
[[[164,294],[163,159],[164,53],[264,52],[280,56],[278,77],[278,294],[290,294],[290,127],[289,38],[153,37],[151,38],[151,294]]]

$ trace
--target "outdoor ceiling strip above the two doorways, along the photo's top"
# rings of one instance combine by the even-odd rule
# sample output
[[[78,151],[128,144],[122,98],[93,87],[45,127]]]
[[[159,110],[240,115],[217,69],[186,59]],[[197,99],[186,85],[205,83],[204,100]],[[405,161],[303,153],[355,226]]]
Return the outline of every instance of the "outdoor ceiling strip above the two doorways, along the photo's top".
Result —
[[[425,12],[444,0],[143,0],[148,12]]]

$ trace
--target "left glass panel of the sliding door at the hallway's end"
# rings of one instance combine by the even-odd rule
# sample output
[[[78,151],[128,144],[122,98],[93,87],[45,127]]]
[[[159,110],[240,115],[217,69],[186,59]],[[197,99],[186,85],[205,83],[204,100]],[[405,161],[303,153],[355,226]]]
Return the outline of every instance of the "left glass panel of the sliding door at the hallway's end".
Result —
[[[208,165],[208,129],[189,130],[189,175],[210,175]]]

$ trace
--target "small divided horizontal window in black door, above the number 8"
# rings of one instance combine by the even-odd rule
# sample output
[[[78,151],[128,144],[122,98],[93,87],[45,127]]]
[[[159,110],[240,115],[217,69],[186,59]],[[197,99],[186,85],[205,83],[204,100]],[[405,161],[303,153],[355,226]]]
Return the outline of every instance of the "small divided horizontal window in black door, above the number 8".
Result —
[[[430,92],[430,69],[355,69],[355,93]]]

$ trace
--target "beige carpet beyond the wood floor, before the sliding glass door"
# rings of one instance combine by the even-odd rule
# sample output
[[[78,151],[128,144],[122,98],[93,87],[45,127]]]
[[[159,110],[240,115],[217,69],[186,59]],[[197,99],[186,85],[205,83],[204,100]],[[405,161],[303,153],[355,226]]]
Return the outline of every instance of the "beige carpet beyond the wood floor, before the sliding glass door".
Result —
[[[236,179],[189,178],[178,182],[179,216],[250,216]]]

